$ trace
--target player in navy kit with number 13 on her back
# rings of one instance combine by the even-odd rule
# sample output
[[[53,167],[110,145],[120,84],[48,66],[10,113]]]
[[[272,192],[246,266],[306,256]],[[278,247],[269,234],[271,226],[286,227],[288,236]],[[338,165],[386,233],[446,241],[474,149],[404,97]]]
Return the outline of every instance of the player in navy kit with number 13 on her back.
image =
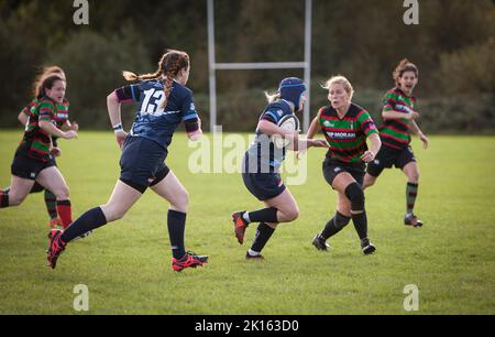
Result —
[[[172,268],[182,271],[208,262],[207,256],[187,252],[184,231],[189,197],[175,174],[165,165],[177,127],[184,122],[189,139],[200,135],[200,119],[193,91],[186,87],[189,78],[189,55],[168,51],[154,74],[140,75],[124,72],[128,80],[139,84],[122,87],[107,98],[108,112],[116,139],[122,148],[120,180],[106,205],[82,214],[64,231],[52,229],[47,252],[48,265],[55,269],[59,254],[75,238],[122,218],[150,187],[169,202],[168,233],[172,246]],[[140,102],[135,121],[128,135],[122,128],[121,104]]]

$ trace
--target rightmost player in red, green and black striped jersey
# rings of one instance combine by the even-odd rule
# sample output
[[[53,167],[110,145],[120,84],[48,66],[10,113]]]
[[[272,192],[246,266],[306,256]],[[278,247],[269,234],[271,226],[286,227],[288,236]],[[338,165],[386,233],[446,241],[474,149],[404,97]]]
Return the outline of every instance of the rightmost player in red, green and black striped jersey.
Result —
[[[414,214],[418,195],[419,168],[410,148],[410,131],[419,137],[424,149],[428,148],[428,138],[416,123],[419,113],[415,110],[416,97],[413,96],[413,91],[418,84],[418,68],[409,61],[403,59],[395,68],[393,77],[395,88],[385,95],[382,111],[384,123],[380,129],[380,138],[383,146],[375,160],[367,165],[363,189],[372,186],[385,167],[395,165],[400,168],[407,176],[404,225],[421,227],[422,221]]]

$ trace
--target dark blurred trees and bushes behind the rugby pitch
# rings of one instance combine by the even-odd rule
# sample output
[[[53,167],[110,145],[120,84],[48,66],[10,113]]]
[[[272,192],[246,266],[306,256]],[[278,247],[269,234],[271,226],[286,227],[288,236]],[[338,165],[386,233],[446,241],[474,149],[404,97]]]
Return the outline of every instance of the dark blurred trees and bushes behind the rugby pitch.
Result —
[[[378,118],[403,57],[420,69],[417,88],[427,132],[495,131],[495,1],[419,2],[419,25],[406,25],[403,0],[314,0],[311,112],[324,105],[319,84],[350,78],[356,101]],[[72,116],[105,129],[106,96],[125,84],[122,69],[153,72],[165,48],[187,51],[189,87],[208,126],[208,52],[205,0],[89,0],[89,25],[75,25],[72,0],[0,1],[0,126],[13,127],[31,99],[43,65],[67,72]],[[218,62],[304,58],[302,0],[216,0]],[[301,70],[218,73],[219,123],[251,130],[265,105],[263,90]],[[134,112],[124,110],[125,122]],[[255,117],[256,116],[256,117]]]

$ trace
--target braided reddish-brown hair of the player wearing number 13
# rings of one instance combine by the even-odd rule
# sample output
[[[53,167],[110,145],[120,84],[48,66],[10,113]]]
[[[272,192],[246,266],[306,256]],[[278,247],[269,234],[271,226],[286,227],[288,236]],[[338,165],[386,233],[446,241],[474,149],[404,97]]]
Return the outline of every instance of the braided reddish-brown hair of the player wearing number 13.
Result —
[[[158,69],[153,74],[136,75],[132,72],[122,72],[123,77],[127,80],[145,80],[156,79],[162,76],[165,77],[163,85],[165,87],[165,100],[161,108],[165,108],[167,105],[168,96],[170,95],[172,85],[174,78],[177,76],[180,69],[189,67],[189,55],[186,52],[167,50],[158,62]]]

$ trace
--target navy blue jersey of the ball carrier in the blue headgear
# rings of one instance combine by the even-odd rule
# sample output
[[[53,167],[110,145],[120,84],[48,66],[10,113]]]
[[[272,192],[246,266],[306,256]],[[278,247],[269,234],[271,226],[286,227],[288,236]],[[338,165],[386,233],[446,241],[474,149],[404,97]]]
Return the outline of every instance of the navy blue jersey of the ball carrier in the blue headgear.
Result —
[[[261,120],[267,120],[275,124],[285,116],[294,116],[292,106],[284,99],[266,106]],[[272,138],[256,129],[256,137],[246,151],[249,160],[249,173],[274,173],[278,172],[285,159],[286,149],[275,146]]]

